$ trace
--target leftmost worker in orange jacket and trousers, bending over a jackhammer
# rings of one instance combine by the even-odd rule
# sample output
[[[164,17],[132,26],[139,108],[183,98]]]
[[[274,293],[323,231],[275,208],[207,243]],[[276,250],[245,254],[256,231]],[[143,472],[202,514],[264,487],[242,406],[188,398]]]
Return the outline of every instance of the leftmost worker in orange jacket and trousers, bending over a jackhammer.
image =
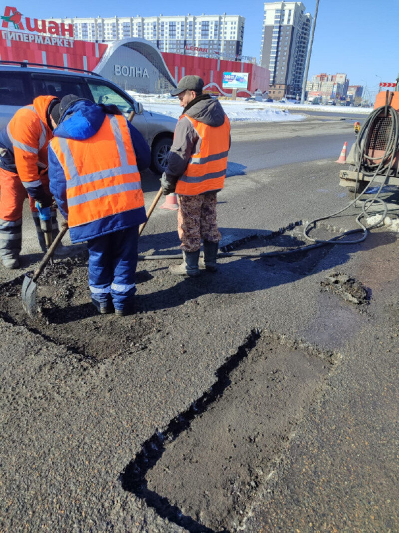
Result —
[[[35,201],[41,207],[53,204],[48,189],[47,147],[53,137],[50,112],[57,103],[60,100],[55,96],[38,96],[30,106],[18,109],[0,132],[0,255],[6,268],[20,264],[22,208],[28,195],[39,244],[46,250]],[[59,232],[55,208],[52,227],[54,238]]]

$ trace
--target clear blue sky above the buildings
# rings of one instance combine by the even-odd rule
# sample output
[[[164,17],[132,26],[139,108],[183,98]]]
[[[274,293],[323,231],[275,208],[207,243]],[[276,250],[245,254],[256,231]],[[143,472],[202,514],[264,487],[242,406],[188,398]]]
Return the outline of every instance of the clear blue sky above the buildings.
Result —
[[[303,2],[306,12],[314,15],[316,0]],[[245,17],[243,55],[259,59],[263,19],[263,2],[251,0],[201,0],[178,3],[152,0],[142,4],[119,0],[65,3],[54,0],[10,0],[3,4],[16,7],[30,18],[59,17],[120,17],[141,15],[214,15],[226,12]],[[345,72],[352,85],[367,86],[370,93],[378,91],[380,79],[395,82],[399,73],[398,33],[399,9],[395,2],[381,0],[320,0],[313,49],[310,79],[315,74]]]

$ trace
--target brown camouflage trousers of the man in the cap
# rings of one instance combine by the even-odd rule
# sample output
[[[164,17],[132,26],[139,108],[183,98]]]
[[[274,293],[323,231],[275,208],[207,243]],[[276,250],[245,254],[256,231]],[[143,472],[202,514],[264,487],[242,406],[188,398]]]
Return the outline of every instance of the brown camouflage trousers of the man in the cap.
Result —
[[[196,196],[179,195],[177,231],[180,247],[185,252],[199,250],[201,239],[219,243],[222,236],[216,224],[216,204],[216,192]]]

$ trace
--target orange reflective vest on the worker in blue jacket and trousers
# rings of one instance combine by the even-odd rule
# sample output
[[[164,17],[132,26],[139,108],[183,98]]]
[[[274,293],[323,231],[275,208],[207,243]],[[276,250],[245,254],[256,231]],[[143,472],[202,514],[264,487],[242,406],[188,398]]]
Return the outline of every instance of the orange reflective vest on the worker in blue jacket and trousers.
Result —
[[[56,136],[51,147],[66,178],[70,228],[144,206],[136,154],[123,116],[106,115],[89,139]]]

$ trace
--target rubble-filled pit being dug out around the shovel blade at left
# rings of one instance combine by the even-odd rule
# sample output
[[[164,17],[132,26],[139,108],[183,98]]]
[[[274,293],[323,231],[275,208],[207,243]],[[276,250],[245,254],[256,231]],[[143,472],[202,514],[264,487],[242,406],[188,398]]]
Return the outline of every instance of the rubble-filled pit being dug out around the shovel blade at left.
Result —
[[[99,315],[90,299],[87,259],[88,254],[82,253],[46,267],[37,280],[35,318],[22,308],[23,276],[2,284],[0,317],[63,344],[86,359],[144,348],[144,339],[156,324],[140,313],[122,319],[113,314]],[[138,281],[140,277],[138,274]]]

